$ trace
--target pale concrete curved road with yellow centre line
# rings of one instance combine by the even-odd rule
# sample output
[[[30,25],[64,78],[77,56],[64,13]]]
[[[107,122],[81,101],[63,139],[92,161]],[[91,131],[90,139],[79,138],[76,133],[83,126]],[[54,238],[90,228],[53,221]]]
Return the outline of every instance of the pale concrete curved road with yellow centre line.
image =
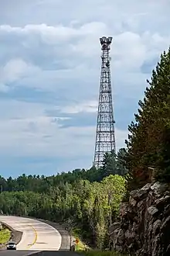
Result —
[[[14,230],[21,231],[22,240],[17,245],[17,250],[58,251],[62,237],[59,232],[39,220],[16,216],[0,216],[0,222],[7,223]]]

